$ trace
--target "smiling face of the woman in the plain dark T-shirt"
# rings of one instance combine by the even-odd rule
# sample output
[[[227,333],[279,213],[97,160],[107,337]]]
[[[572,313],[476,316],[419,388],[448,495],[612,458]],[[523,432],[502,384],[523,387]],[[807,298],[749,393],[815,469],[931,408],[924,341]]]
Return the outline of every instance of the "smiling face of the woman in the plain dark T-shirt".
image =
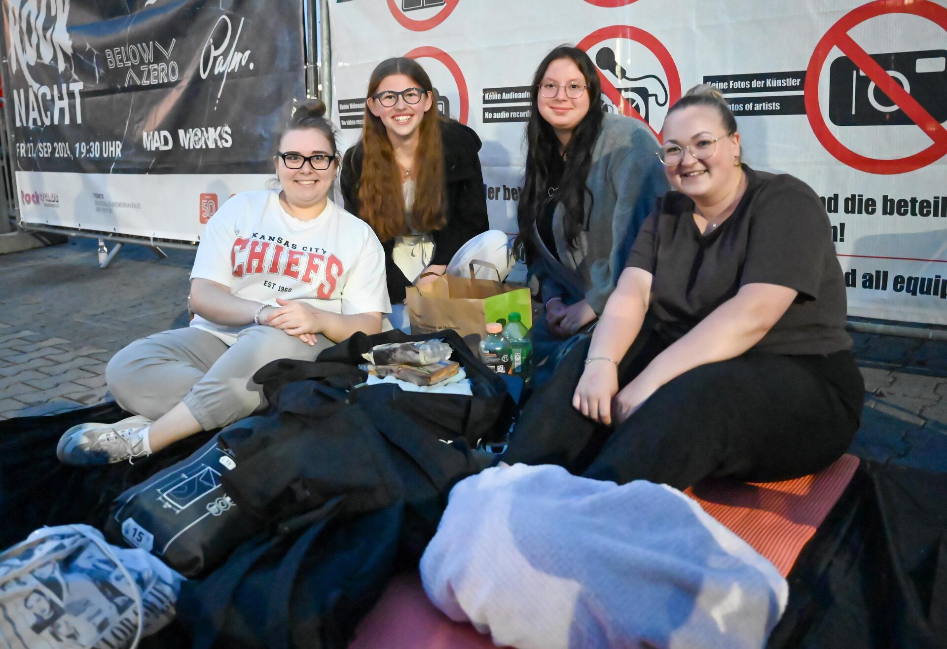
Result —
[[[715,144],[714,138],[719,138]],[[739,183],[742,171],[734,161],[740,159],[740,134],[726,135],[723,119],[710,106],[673,111],[664,120],[664,145],[671,143],[684,150],[679,164],[665,167],[674,189],[698,203],[712,203]],[[687,146],[690,149],[685,149]],[[709,157],[694,157],[692,152],[708,146],[713,147]]]

